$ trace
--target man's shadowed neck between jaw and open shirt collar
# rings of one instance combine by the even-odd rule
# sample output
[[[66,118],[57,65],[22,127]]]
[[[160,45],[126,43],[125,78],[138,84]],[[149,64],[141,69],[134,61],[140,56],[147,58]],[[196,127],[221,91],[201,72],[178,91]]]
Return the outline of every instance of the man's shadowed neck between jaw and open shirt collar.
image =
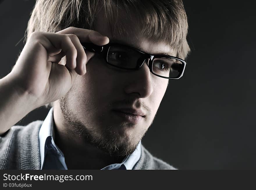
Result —
[[[68,169],[102,169],[124,158],[117,158],[81,138],[63,117],[58,104],[54,105],[54,142],[65,156]]]

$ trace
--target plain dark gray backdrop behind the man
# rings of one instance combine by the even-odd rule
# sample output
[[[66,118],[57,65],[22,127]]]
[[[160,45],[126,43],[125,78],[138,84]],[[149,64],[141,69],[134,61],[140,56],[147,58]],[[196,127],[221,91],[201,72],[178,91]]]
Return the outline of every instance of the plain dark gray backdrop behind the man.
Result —
[[[23,42],[15,44],[34,2],[0,1],[0,77],[22,50]],[[179,169],[256,169],[256,3],[238,2],[184,1],[192,52],[184,76],[170,81],[142,141]],[[44,120],[47,112],[38,108],[19,124]]]

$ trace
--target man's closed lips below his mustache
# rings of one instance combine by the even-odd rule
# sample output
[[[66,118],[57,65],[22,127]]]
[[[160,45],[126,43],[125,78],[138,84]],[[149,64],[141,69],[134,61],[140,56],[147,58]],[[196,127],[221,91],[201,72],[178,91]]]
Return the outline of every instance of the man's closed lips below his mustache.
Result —
[[[138,124],[142,118],[145,118],[145,114],[136,110],[112,110],[113,113],[121,118],[123,121]]]

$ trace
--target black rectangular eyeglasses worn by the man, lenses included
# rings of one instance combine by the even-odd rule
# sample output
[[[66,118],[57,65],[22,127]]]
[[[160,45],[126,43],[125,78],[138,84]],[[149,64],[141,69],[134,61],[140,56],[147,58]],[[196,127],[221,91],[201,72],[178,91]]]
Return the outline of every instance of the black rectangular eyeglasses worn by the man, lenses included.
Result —
[[[104,56],[106,63],[125,70],[138,70],[147,63],[152,74],[161,78],[179,79],[182,77],[186,62],[178,57],[150,55],[133,47],[117,43],[97,46],[93,43],[81,43],[83,48]]]

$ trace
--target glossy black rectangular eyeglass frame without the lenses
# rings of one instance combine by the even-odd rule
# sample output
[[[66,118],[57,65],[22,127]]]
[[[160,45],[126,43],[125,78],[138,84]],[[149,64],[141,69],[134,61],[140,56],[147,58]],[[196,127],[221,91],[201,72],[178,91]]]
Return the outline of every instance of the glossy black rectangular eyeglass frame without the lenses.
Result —
[[[156,75],[156,76],[159,76],[161,78],[167,78],[167,79],[179,79],[183,76],[183,73],[184,73],[184,70],[185,70],[185,67],[186,67],[186,61],[184,61],[183,59],[180,59],[178,57],[175,57],[175,56],[167,56],[167,55],[151,55],[151,54],[147,54],[145,52],[142,52],[134,47],[130,47],[128,45],[123,45],[123,44],[119,44],[119,43],[108,43],[106,45],[103,45],[103,46],[98,46],[98,45],[95,45],[93,43],[81,43],[81,45],[83,46],[83,48],[85,50],[88,50],[90,52],[94,52],[94,53],[99,53],[99,54],[104,54],[104,59],[106,61],[106,63],[108,63],[109,65],[113,66],[113,67],[117,67],[117,68],[120,68],[120,69],[125,69],[125,70],[138,70],[139,68],[142,67],[143,63],[145,62],[145,60],[149,59],[147,65],[149,67],[149,70],[152,74]],[[111,63],[108,62],[107,58],[108,58],[108,52],[109,52],[109,48],[111,45],[117,45],[117,46],[123,46],[123,47],[126,47],[126,48],[131,48],[133,50],[136,50],[137,52],[143,54],[143,56],[141,56],[138,61],[137,61],[137,67],[136,68],[124,68],[124,67],[119,67],[117,65],[113,65]],[[158,75],[156,73],[154,73],[153,71],[153,61],[155,58],[171,58],[171,59],[176,59],[178,61],[180,61],[182,63],[182,66],[183,66],[183,70],[182,72],[175,78],[173,77],[165,77],[165,76],[161,76],[161,75]],[[144,60],[144,61],[143,61]],[[139,64],[139,62],[142,62],[141,64]]]

